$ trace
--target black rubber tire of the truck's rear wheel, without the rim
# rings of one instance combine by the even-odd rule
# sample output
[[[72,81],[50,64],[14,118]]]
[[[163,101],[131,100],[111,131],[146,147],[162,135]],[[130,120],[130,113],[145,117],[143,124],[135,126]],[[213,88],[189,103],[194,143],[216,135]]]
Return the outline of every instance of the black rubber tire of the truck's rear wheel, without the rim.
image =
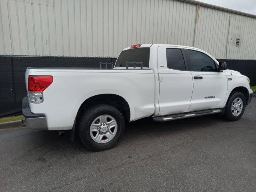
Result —
[[[110,115],[116,120],[117,123],[116,134],[110,141],[106,143],[98,143],[94,141],[90,136],[90,126],[92,122],[95,120],[95,118],[101,115]],[[114,147],[117,144],[123,132],[124,118],[122,114],[116,108],[107,104],[94,105],[88,110],[86,110],[81,115],[80,122],[78,124],[78,134],[80,140],[87,148],[94,151],[102,151]]]

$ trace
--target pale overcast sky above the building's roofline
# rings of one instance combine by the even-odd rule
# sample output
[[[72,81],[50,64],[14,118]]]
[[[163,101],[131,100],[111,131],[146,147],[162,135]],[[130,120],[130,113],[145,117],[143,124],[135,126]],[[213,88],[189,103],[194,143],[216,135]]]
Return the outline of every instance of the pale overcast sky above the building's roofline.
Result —
[[[256,15],[256,0],[198,0],[198,1]]]

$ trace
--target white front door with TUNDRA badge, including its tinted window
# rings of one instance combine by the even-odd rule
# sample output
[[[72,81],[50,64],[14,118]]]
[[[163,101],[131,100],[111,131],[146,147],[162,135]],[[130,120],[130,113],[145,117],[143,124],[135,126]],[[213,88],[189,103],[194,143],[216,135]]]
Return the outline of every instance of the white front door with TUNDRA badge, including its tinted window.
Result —
[[[227,77],[217,71],[216,62],[204,52],[184,49],[193,76],[193,94],[189,111],[221,108],[227,94]]]

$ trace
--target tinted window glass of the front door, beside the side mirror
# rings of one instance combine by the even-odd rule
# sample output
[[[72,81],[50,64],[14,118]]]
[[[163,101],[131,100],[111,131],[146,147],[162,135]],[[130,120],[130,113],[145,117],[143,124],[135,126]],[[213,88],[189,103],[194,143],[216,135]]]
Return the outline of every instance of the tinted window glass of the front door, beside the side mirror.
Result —
[[[188,55],[191,71],[216,71],[215,62],[208,55],[193,50],[188,50]]]

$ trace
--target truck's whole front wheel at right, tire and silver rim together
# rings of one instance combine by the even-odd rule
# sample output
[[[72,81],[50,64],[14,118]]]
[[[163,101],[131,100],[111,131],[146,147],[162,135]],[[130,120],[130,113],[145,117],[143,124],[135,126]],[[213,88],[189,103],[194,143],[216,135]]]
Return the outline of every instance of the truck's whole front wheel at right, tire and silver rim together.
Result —
[[[241,92],[234,92],[226,104],[224,117],[230,121],[239,120],[244,114],[246,98]]]

